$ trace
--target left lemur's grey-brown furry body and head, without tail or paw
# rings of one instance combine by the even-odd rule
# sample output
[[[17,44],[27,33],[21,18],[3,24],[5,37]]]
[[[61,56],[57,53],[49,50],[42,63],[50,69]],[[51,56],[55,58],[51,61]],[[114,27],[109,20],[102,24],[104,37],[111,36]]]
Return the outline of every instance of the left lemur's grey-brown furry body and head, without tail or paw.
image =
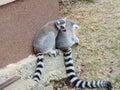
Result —
[[[64,31],[64,28],[61,28],[61,26],[65,26],[65,21],[66,18],[61,18],[48,22],[37,31],[33,41],[33,48],[35,53],[41,52],[45,54],[55,49],[55,38],[58,32]]]

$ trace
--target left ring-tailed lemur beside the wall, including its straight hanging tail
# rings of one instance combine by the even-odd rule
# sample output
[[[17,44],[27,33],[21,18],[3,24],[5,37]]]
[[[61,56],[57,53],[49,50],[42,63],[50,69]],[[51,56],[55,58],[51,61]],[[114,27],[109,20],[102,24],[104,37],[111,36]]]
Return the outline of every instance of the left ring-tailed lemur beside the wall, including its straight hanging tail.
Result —
[[[58,50],[55,48],[55,39],[58,32],[65,32],[66,18],[61,18],[45,24],[35,35],[33,50],[37,57],[37,66],[33,75],[33,80],[39,82],[43,70],[43,56],[49,54],[56,56]]]

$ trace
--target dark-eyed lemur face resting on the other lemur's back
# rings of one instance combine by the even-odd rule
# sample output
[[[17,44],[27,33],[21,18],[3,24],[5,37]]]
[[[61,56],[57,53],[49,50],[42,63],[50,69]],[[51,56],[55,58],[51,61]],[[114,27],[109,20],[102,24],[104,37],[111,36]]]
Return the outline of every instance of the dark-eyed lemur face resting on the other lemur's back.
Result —
[[[66,20],[67,18],[61,18],[55,22],[55,26],[57,27],[58,30],[63,31],[63,32],[66,31],[66,28],[65,28]]]

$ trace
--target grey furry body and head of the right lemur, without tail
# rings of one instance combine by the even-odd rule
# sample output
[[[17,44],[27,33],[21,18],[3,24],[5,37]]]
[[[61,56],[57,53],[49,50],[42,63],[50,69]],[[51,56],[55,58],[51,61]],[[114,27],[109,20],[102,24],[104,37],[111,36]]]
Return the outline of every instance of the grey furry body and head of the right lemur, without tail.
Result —
[[[79,44],[79,39],[75,35],[75,30],[77,30],[79,26],[70,19],[66,19],[65,28],[66,32],[59,32],[56,38],[56,48],[62,50],[68,49],[74,44]]]

